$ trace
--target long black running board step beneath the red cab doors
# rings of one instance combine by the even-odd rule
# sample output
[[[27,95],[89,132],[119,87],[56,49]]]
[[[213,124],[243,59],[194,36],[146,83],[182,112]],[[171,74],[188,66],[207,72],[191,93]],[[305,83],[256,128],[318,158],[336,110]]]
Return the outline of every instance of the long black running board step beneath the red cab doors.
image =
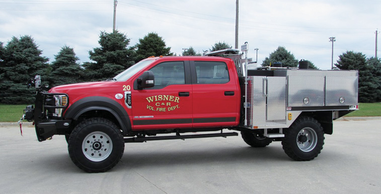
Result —
[[[198,135],[176,135],[176,136],[158,136],[158,137],[143,137],[143,138],[124,138],[125,143],[141,143],[145,141],[156,141],[156,140],[172,140],[172,139],[194,139],[194,138],[207,138],[207,137],[228,137],[228,136],[238,136],[238,133],[212,133],[212,134],[198,134]]]

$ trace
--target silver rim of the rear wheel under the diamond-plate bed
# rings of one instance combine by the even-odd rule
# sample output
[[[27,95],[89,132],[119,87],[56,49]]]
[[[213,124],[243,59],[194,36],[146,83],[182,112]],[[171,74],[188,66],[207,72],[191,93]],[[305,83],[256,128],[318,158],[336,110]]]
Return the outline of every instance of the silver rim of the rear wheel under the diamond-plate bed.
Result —
[[[318,143],[318,135],[312,128],[303,128],[297,134],[296,143],[301,151],[309,152],[316,147]]]

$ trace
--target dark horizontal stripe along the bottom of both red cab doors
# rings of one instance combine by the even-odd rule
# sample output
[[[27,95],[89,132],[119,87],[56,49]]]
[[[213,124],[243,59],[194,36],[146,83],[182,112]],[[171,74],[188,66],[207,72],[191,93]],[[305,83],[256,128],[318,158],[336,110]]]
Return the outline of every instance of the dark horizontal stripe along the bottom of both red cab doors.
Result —
[[[193,119],[193,123],[223,123],[235,122],[235,117],[223,118],[200,118]],[[133,125],[165,125],[165,124],[187,124],[192,123],[192,119],[159,119],[159,120],[134,120]]]

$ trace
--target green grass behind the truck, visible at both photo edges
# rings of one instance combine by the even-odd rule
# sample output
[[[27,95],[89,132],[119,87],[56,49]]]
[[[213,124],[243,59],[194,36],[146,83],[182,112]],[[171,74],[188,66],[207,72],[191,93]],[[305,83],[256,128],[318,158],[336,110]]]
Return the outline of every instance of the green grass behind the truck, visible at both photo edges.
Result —
[[[26,105],[0,105],[0,122],[18,122]],[[346,117],[381,117],[381,103],[360,103],[358,111]]]

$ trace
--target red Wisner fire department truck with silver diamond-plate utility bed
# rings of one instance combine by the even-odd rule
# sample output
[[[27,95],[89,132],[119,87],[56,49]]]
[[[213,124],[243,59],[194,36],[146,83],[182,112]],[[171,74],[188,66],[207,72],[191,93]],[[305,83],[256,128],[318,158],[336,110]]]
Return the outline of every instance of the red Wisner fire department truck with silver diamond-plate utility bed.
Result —
[[[64,135],[79,168],[104,172],[125,143],[238,135],[223,129],[252,147],[282,141],[290,158],[312,160],[333,120],[358,109],[357,71],[248,71],[241,58],[234,49],[147,58],[112,79],[49,91],[36,76],[35,105],[23,119],[35,122],[38,141]]]

